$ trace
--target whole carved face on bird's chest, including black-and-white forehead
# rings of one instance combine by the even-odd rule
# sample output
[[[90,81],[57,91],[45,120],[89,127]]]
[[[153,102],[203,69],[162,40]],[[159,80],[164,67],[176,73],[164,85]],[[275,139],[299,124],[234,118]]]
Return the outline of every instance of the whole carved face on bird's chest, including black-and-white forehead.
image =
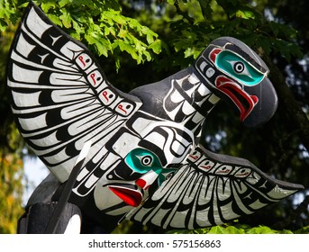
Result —
[[[145,122],[140,118],[132,127]],[[194,140],[190,131],[174,122],[151,123],[141,135],[124,131],[114,139],[113,145],[106,145],[109,151],[104,160],[111,166],[94,192],[96,206],[110,215],[139,206],[173,175],[177,170],[173,165],[185,159]]]

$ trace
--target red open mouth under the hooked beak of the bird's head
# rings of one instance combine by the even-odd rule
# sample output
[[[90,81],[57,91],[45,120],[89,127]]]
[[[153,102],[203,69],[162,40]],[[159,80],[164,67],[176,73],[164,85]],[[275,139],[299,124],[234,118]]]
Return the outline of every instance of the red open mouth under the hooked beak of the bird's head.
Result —
[[[215,85],[221,92],[228,95],[232,99],[232,102],[238,107],[241,112],[241,121],[247,118],[254,106],[259,102],[259,98],[256,95],[250,95],[241,90],[239,85],[225,76],[217,77]]]

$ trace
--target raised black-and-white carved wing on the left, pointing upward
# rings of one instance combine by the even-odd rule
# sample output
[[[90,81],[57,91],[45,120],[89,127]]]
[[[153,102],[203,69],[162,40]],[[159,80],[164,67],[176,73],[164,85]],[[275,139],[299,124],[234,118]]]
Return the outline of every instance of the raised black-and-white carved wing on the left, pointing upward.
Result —
[[[23,138],[62,182],[87,140],[94,157],[141,107],[108,83],[83,44],[32,3],[16,32],[7,78]]]

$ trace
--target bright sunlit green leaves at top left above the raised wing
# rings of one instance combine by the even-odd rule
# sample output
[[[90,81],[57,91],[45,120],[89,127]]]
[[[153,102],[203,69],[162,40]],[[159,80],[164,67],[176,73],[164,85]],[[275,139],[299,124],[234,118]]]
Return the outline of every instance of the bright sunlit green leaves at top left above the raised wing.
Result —
[[[4,1],[1,6],[0,30],[19,20],[24,1]],[[121,14],[117,1],[59,0],[33,1],[53,23],[59,25],[73,38],[85,42],[95,55],[105,57],[109,53],[125,51],[137,63],[150,61],[151,52],[159,53],[158,35],[136,19]],[[2,16],[1,16],[2,15]],[[118,57],[115,57],[116,59]],[[119,61],[116,62],[119,67]]]

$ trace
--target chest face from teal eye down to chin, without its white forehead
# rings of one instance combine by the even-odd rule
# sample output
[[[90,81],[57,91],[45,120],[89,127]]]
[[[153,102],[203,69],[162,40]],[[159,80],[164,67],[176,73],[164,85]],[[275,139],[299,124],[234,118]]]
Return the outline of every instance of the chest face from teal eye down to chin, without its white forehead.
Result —
[[[163,168],[152,151],[134,148],[95,187],[95,203],[108,214],[124,213],[139,206],[174,171]]]

